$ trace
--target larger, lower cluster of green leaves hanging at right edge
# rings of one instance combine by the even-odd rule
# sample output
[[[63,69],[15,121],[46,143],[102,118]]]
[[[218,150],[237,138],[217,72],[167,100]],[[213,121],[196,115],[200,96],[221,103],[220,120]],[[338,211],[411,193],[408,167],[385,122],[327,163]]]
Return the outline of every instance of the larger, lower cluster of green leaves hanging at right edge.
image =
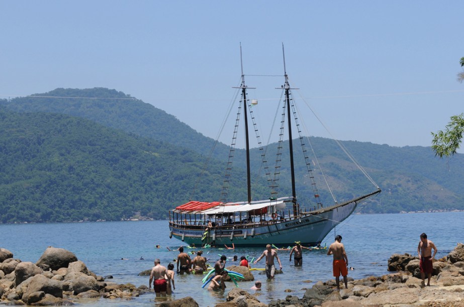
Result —
[[[435,156],[440,158],[454,156],[456,150],[462,141],[462,133],[464,132],[464,113],[451,116],[451,121],[446,125],[445,131],[432,133],[432,149],[435,151]]]

